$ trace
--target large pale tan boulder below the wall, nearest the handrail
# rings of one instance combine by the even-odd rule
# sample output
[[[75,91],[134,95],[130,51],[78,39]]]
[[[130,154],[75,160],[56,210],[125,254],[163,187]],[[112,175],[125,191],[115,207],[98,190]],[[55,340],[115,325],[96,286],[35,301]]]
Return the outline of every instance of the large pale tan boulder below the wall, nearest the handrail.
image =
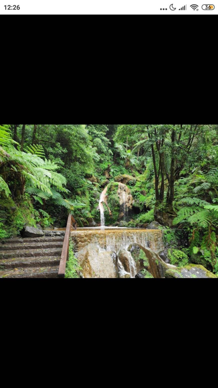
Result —
[[[84,278],[118,277],[117,255],[101,251],[97,244],[89,244],[76,254]]]

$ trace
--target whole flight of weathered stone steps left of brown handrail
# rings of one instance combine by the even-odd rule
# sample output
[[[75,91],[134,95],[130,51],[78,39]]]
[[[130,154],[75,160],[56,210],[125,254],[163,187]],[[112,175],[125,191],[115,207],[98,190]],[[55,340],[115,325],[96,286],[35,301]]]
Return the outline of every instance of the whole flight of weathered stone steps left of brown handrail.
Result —
[[[64,236],[14,238],[0,243],[0,278],[57,277]]]

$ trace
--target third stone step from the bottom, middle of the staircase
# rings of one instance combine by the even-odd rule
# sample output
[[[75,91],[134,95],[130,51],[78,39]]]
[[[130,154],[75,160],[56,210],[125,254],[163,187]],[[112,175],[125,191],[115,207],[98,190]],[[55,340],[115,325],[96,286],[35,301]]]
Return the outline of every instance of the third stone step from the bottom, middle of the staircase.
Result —
[[[0,251],[0,260],[18,258],[18,257],[39,257],[39,256],[61,256],[61,248],[47,248],[47,249],[17,249]]]

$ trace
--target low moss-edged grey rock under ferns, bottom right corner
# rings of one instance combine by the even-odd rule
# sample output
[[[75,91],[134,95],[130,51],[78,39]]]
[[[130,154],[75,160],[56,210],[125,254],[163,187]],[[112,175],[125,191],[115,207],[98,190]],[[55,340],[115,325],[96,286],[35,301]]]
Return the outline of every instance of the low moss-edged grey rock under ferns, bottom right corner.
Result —
[[[166,271],[165,277],[168,278],[216,278],[212,272],[208,271],[203,265],[189,264],[185,267],[177,267],[173,269],[168,269]]]

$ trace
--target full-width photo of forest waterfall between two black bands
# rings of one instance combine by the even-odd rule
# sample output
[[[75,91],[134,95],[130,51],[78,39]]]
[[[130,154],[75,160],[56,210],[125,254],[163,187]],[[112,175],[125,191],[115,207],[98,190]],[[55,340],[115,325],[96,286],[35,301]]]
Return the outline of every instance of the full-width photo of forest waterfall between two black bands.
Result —
[[[0,282],[217,279],[217,234],[218,124],[0,124]]]

